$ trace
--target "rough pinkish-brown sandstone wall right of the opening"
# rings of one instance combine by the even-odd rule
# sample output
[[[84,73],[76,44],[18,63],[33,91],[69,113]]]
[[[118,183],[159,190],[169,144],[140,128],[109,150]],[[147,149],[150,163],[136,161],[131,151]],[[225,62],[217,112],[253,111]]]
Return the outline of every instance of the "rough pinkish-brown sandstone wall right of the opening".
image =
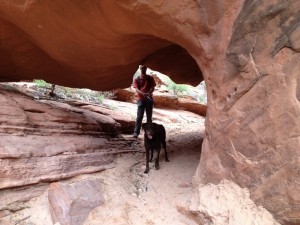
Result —
[[[293,1],[245,1],[230,26],[230,40],[202,67],[209,103],[207,138],[196,174],[204,183],[233,180],[281,223],[296,224],[299,6]],[[223,30],[225,18],[215,27]]]

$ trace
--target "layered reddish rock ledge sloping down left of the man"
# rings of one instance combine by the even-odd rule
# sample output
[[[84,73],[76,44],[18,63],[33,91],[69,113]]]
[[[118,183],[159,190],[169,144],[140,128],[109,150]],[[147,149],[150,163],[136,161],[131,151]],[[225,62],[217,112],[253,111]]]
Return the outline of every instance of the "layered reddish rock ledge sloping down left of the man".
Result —
[[[96,113],[87,110],[88,104],[74,107],[34,100],[9,86],[1,87],[0,189],[100,171],[113,161],[120,146],[121,151],[134,151],[117,138],[122,125],[109,116],[108,109],[102,112],[99,106],[90,106]],[[121,123],[126,128],[134,124],[130,116],[131,123],[122,113],[114,115],[119,121],[125,118],[127,122]]]

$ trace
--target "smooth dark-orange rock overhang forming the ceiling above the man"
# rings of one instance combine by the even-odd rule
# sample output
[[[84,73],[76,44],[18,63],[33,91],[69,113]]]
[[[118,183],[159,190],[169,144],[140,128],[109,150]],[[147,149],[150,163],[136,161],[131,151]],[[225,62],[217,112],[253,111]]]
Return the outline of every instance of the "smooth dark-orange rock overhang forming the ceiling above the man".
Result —
[[[153,18],[160,10],[168,10],[169,4],[0,2],[0,81],[43,78],[66,86],[107,90],[128,87],[138,65],[146,63],[198,84],[203,79],[201,71],[179,46],[178,41],[183,40],[170,39],[171,31],[183,38],[180,27],[174,24],[165,30],[165,25],[172,24],[168,15],[160,15],[161,22],[153,24]],[[190,3],[176,7],[186,5]],[[181,80],[186,82],[186,77]]]

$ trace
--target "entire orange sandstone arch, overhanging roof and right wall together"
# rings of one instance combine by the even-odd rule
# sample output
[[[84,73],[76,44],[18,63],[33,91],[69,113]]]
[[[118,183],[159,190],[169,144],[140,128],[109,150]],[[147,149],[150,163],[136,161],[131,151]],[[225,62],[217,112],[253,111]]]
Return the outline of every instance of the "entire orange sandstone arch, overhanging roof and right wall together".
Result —
[[[231,180],[299,224],[299,11],[293,0],[1,1],[0,81],[109,90],[141,63],[176,82],[204,78],[196,181]]]

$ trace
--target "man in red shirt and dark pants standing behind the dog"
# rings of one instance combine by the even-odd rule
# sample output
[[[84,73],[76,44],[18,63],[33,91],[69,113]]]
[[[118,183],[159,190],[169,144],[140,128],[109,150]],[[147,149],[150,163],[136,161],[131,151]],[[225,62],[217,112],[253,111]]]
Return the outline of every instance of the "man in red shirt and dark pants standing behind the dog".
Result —
[[[144,112],[146,110],[147,123],[152,122],[153,111],[153,91],[156,83],[152,76],[148,75],[147,67],[140,66],[141,74],[133,80],[133,87],[136,90],[137,117],[133,137],[137,138],[140,134]]]

